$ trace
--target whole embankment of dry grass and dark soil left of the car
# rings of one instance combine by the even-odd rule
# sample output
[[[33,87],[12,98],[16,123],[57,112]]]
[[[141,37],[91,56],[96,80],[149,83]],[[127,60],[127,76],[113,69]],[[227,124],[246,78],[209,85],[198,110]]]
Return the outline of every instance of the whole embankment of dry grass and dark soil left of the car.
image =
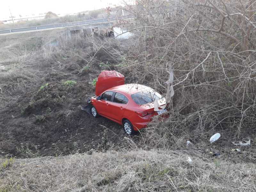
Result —
[[[94,94],[89,73],[99,74],[99,66],[82,72],[87,63],[69,51],[55,51],[50,59],[42,59],[42,56],[40,62],[34,60],[45,44],[51,45],[49,51],[58,49],[52,47],[51,42],[66,32],[50,34],[52,39],[46,36],[47,33],[24,34],[18,45],[12,43],[15,37],[21,37],[20,34],[0,39],[2,50],[8,47],[12,52],[23,48],[29,54],[22,63],[19,58],[25,57],[24,54],[19,58],[7,58],[7,51],[3,51],[1,55],[5,69],[0,77],[3,90],[0,93],[0,155],[55,156],[115,147],[123,137],[122,127],[103,117],[96,120],[78,108]],[[28,44],[35,47],[28,48]],[[29,60],[33,62],[28,63]]]

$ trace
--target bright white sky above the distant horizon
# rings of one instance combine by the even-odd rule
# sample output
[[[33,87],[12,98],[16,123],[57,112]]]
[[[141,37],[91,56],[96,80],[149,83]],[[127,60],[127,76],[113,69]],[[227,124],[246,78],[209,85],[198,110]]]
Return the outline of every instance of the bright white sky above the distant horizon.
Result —
[[[38,15],[48,11],[67,14],[120,5],[121,2],[122,0],[1,0],[0,20],[10,17],[9,8],[14,16]]]

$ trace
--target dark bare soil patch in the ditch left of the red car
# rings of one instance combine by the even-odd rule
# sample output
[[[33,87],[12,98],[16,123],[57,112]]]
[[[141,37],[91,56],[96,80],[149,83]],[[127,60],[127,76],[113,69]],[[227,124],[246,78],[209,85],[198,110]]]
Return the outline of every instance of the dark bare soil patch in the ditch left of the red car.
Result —
[[[24,150],[31,150],[29,156],[70,154],[118,144],[122,126],[103,117],[95,119],[78,107],[93,95],[88,78],[60,74],[47,73],[43,82],[49,82],[48,87],[38,91],[41,84],[37,84],[1,109],[2,154],[26,157]],[[67,78],[77,84],[64,87],[61,79]]]

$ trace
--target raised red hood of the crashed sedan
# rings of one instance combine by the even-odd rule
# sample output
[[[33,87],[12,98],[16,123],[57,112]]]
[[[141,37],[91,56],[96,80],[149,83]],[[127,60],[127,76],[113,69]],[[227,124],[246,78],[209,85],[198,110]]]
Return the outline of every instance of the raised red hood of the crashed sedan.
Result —
[[[107,89],[123,84],[124,76],[121,73],[118,73],[114,70],[102,71],[98,76],[98,80],[96,82],[95,94],[96,96],[99,96]]]

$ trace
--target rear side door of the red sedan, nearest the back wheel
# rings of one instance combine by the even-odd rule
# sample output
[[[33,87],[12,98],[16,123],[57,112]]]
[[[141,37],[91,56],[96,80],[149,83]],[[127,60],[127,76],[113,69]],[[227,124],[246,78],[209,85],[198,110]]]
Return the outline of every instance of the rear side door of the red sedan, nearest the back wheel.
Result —
[[[124,96],[124,94],[115,92],[113,97],[113,101],[109,102],[110,111],[109,117],[115,119],[116,121],[121,121],[124,115],[124,110],[128,105],[128,99]]]

